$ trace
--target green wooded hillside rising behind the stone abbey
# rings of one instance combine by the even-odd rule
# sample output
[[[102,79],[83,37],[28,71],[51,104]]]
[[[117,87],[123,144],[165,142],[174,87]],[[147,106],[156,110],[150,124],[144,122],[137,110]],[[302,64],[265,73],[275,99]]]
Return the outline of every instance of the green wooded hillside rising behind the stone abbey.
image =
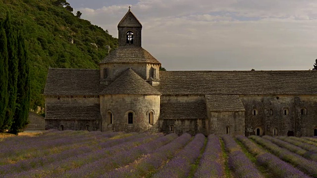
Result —
[[[112,49],[118,45],[101,27],[70,12],[70,6],[58,5],[56,0],[0,0],[0,21],[10,13],[12,24],[23,30],[27,41],[32,109],[45,106],[43,90],[49,67],[98,68],[108,54],[106,45]]]

